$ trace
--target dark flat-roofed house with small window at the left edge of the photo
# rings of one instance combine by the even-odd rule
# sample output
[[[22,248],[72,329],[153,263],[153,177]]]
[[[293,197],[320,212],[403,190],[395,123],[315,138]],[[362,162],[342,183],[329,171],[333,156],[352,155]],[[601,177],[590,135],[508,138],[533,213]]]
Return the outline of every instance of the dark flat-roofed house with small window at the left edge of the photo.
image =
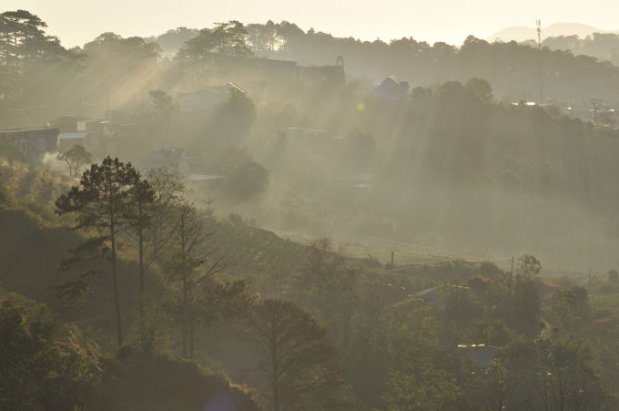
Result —
[[[32,164],[40,164],[46,154],[55,153],[59,146],[59,128],[6,129],[0,130],[0,134],[15,136],[17,149]]]

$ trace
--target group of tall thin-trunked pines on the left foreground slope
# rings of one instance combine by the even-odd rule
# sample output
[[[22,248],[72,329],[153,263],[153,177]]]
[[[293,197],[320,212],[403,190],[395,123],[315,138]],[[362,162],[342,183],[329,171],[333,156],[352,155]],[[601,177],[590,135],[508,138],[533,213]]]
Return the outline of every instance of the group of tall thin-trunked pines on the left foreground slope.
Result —
[[[212,262],[208,270],[198,270],[207,263],[209,252],[205,247],[210,234],[203,230],[203,221],[189,195],[178,178],[165,171],[153,170],[143,176],[130,163],[108,157],[84,172],[79,187],[56,200],[60,213],[76,214],[72,230],[84,231],[85,237],[60,262],[59,270],[70,276],[51,287],[70,307],[83,304],[93,286],[112,293],[118,346],[124,342],[121,307],[127,307],[122,299],[133,298],[120,289],[122,283],[127,284],[122,277],[131,274],[122,269],[123,259],[136,265],[133,273],[137,274],[140,344],[155,344],[154,328],[161,321],[161,306],[178,319],[183,357],[193,354],[197,329],[248,312],[251,304],[244,282],[207,282],[226,266],[226,256]],[[165,273],[158,280],[154,275],[157,265]],[[74,271],[80,267],[84,271]],[[180,296],[164,303],[164,291],[173,286],[178,286]],[[149,317],[153,287],[159,292],[155,293],[158,299],[151,305],[156,308]],[[215,306],[212,299],[218,301]],[[235,311],[232,307],[244,309]]]

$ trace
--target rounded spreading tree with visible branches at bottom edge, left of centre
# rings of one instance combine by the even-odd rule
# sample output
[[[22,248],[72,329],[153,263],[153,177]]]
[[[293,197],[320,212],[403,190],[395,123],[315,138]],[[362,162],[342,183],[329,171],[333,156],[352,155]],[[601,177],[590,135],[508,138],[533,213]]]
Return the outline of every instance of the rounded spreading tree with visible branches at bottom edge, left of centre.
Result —
[[[268,387],[261,394],[273,411],[345,406],[339,398],[345,370],[337,349],[327,342],[327,330],[298,305],[264,301],[241,336],[263,360],[259,370]]]

